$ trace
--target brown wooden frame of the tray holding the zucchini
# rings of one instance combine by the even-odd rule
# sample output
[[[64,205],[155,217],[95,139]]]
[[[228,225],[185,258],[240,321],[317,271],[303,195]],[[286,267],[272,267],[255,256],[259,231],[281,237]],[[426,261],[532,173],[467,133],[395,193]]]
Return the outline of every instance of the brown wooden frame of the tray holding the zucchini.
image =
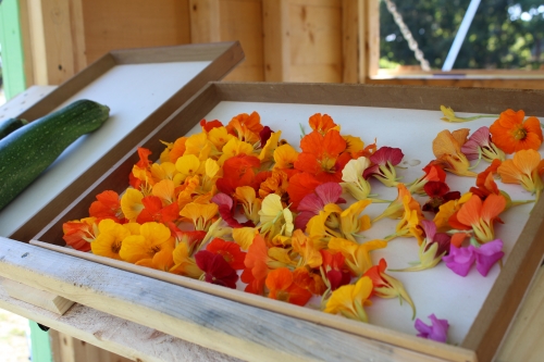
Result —
[[[104,157],[84,174],[66,187],[52,202],[41,209],[9,237],[28,241],[41,230],[66,204],[77,199],[78,196],[96,180],[96,175],[106,173],[119,160],[120,154],[131,151],[141,141],[141,135],[151,133],[161,122],[176,111],[181,104],[198,92],[211,80],[220,80],[234,70],[244,60],[244,52],[238,41],[183,45],[158,48],[139,48],[113,50],[106,53],[82,72],[60,85],[57,89],[36,102],[32,108],[16,117],[27,121],[37,120],[62,104],[66,99],[78,92],[96,78],[120,64],[144,64],[166,62],[197,62],[211,61],[187,85],[178,89],[170,99],[153,111],[122,141],[115,145]]]

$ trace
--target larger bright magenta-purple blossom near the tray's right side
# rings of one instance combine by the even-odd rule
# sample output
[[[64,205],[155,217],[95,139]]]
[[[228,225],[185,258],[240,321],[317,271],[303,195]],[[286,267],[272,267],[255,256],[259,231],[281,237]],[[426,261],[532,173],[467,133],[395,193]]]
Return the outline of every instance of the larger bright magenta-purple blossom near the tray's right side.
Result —
[[[478,272],[486,276],[491,267],[504,255],[503,240],[496,239],[480,247],[470,245],[466,248],[456,248],[452,245],[449,255],[443,257],[442,260],[447,267],[460,276],[467,276],[470,267],[475,262]]]

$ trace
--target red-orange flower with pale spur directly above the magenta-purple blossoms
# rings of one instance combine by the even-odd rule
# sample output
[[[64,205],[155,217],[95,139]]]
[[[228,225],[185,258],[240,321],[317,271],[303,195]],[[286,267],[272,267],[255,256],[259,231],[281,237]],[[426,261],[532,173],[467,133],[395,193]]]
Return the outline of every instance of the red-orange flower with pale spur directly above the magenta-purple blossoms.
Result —
[[[472,195],[470,199],[449,217],[449,225],[456,229],[472,229],[475,239],[481,242],[495,240],[494,223],[506,208],[503,195],[490,195],[484,201],[479,196]],[[457,233],[452,237],[452,244],[459,248],[466,233]]]

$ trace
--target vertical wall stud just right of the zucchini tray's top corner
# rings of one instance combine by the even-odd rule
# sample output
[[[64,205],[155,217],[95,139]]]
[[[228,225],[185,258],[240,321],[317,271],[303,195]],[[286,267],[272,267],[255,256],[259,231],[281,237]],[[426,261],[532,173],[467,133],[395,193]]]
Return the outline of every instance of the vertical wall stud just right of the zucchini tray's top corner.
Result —
[[[264,80],[287,82],[290,76],[288,0],[262,1]]]

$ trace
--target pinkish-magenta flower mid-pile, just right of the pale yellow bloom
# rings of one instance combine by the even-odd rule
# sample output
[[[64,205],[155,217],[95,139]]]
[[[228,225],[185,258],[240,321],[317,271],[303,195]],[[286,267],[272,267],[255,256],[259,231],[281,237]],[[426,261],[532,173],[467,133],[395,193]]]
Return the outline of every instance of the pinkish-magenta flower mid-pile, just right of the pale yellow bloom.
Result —
[[[306,229],[306,224],[313,216],[318,215],[327,203],[345,203],[341,198],[342,186],[337,183],[324,183],[316,187],[312,194],[305,196],[298,204],[297,211],[300,213],[295,219],[295,228]]]

